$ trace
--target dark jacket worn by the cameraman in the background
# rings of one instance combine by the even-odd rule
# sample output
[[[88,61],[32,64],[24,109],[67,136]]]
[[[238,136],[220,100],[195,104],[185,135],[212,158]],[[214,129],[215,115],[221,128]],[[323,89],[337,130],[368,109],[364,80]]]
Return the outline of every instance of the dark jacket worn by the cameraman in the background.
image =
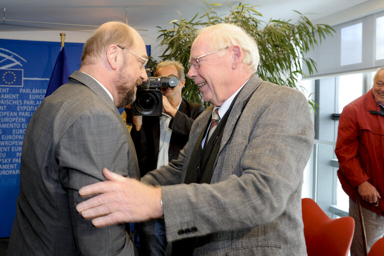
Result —
[[[204,111],[203,105],[192,103],[182,99],[179,109],[174,118],[169,122],[172,129],[168,149],[168,160],[176,159],[179,151],[188,141],[189,131],[193,120]],[[143,116],[143,126],[136,131],[134,125],[131,129],[131,136],[135,144],[141,176],[157,167],[160,140],[160,119],[159,116]]]

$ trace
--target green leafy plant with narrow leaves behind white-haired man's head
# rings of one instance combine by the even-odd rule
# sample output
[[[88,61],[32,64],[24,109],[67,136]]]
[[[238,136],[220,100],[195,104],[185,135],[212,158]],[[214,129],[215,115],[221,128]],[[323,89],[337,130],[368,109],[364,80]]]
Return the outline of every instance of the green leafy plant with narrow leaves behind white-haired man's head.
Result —
[[[308,17],[298,11],[296,12],[299,18],[294,23],[291,23],[291,20],[280,19],[264,22],[260,20],[262,14],[256,10],[257,5],[239,3],[233,8],[228,3],[229,13],[219,16],[215,8],[222,4],[202,1],[207,6],[204,14],[199,16],[199,13],[196,13],[192,19],[187,20],[178,11],[180,20],[170,21],[171,28],[157,26],[160,45],[165,46],[161,55],[162,60],[179,60],[186,72],[195,31],[200,27],[217,23],[235,23],[242,26],[258,43],[259,77],[276,84],[304,90],[298,80],[301,76],[305,76],[302,65],[306,65],[310,73],[316,70],[315,61],[305,57],[304,53],[314,48],[327,35],[335,32],[327,24],[313,24]],[[190,79],[186,81],[183,96],[190,101],[203,102],[198,87]],[[313,100],[309,100],[309,103],[314,109],[317,106]]]

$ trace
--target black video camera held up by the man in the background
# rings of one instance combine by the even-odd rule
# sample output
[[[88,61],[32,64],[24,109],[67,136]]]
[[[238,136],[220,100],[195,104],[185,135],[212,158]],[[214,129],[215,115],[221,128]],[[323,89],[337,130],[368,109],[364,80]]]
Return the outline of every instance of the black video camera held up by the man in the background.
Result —
[[[147,73],[150,70],[147,70]],[[136,100],[131,104],[133,115],[161,115],[163,94],[160,88],[173,88],[179,83],[175,75],[149,76],[136,91]]]

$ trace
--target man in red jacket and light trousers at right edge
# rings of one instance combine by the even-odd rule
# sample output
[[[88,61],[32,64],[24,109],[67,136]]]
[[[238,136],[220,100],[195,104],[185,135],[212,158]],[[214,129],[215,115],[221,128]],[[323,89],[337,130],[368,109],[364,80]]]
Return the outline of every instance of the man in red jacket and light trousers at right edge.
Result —
[[[367,249],[384,236],[384,68],[376,73],[370,91],[344,107],[335,153],[340,182],[350,197],[349,214],[356,223],[351,256],[364,255],[358,197]]]

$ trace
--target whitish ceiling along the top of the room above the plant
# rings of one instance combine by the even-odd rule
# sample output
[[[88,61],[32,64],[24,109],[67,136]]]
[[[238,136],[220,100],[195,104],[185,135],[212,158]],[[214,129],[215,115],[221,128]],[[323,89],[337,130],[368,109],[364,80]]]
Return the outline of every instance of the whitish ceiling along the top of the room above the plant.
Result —
[[[234,7],[240,1],[212,0],[211,3],[213,2],[223,4],[222,7],[215,8],[218,14],[222,14],[228,13],[228,4]],[[263,14],[264,20],[269,18],[296,20],[298,14],[293,10],[306,14],[311,20],[317,20],[379,0],[244,0],[243,2],[259,5],[256,9]],[[150,30],[156,26],[167,27],[169,21],[179,19],[177,10],[184,18],[190,19],[197,12],[203,14],[205,7],[202,0],[0,0],[2,17],[0,31],[89,30],[94,29],[93,26],[111,20],[123,22],[127,20],[128,24],[136,29]]]

